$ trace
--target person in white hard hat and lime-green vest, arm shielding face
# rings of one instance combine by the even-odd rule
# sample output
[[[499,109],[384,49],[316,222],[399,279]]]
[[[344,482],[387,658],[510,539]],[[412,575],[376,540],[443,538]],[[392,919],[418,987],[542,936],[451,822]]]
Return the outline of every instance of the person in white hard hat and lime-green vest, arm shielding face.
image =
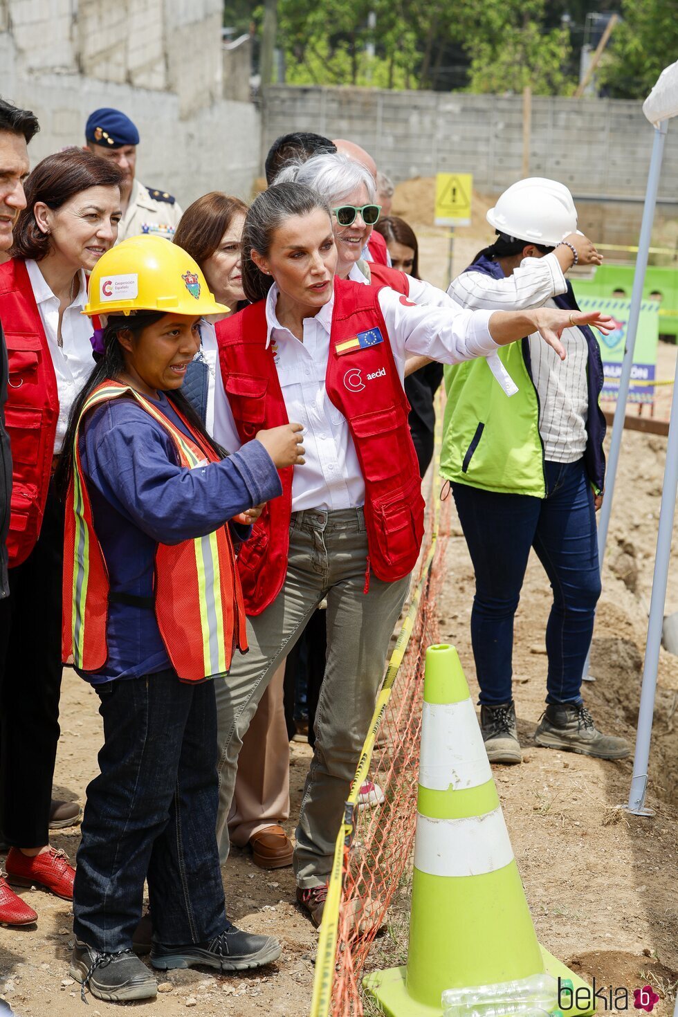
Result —
[[[601,580],[596,510],[603,497],[603,364],[580,323],[565,272],[600,264],[576,232],[568,189],[521,180],[487,214],[497,239],[476,255],[448,293],[468,308],[572,311],[562,335],[567,358],[531,333],[499,352],[517,391],[508,396],[481,361],[446,370],[440,470],[451,482],[476,572],[471,636],[481,728],[492,762],[519,763],[511,692],[513,615],[534,547],[553,588],[546,631],[546,711],[535,740],[599,759],[623,759],[623,738],[596,727],[581,699]]]

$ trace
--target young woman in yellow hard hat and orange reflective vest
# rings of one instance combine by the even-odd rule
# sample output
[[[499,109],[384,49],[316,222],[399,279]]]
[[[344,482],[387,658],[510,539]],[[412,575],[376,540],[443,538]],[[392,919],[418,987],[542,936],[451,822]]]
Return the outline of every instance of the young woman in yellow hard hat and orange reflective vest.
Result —
[[[259,428],[226,457],[181,397],[203,314],[226,308],[169,241],[124,241],[91,274],[101,359],[69,420],[63,658],[98,693],[101,773],[87,788],[73,892],[72,977],[100,999],[157,993],[132,952],[144,880],[155,968],[232,971],[280,944],[226,918],[214,835],[217,710],[205,680],[247,640],[233,539],[303,464],[301,426]],[[248,516],[249,514],[249,516]],[[234,532],[235,529],[235,532]]]

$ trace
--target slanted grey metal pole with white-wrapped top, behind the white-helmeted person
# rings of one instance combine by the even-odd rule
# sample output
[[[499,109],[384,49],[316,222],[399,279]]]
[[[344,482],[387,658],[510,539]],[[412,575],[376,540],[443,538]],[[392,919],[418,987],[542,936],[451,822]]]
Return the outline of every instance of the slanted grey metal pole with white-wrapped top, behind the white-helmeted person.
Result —
[[[628,390],[631,383],[631,368],[633,367],[635,336],[638,331],[638,319],[640,317],[642,287],[645,281],[648,252],[650,242],[652,240],[655,205],[657,204],[657,191],[662,171],[662,159],[664,158],[664,142],[666,140],[667,129],[668,123],[666,120],[662,121],[660,126],[655,128],[653,154],[650,161],[650,173],[648,175],[648,187],[645,189],[645,203],[642,210],[642,223],[640,225],[640,237],[638,239],[638,253],[635,257],[635,275],[633,277],[633,289],[631,291],[631,306],[628,313],[628,325],[626,327],[626,348],[624,350],[624,359],[621,365],[617,406],[615,408],[614,422],[612,424],[612,438],[610,441],[610,454],[608,456],[608,466],[605,478],[605,497],[603,498],[603,505],[601,507],[600,520],[598,523],[598,556],[600,558],[601,570],[603,569],[603,558],[605,557],[605,546],[607,544],[608,528],[610,526],[610,515],[612,513],[612,498],[614,497],[615,478],[617,475],[617,466],[619,465],[619,453],[621,450],[621,437],[624,430]],[[591,648],[589,649],[587,662],[583,665],[584,680],[589,677],[590,658]]]

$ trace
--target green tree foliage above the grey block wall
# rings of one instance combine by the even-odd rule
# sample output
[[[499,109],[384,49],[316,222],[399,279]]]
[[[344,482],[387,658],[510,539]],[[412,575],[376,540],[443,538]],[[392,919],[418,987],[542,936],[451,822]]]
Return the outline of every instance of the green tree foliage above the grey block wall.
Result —
[[[678,54],[676,0],[278,0],[278,46],[290,84],[567,96],[587,15],[620,5],[597,81],[640,99]],[[259,31],[261,9],[225,0],[225,24]]]

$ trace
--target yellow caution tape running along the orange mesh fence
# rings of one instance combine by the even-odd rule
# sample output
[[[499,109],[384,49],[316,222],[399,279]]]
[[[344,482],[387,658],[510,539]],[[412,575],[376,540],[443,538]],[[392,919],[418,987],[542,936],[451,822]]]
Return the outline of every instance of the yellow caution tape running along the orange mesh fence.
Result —
[[[433,473],[433,491],[438,489],[440,479],[440,446],[442,436],[442,398],[437,400],[436,412],[436,453]],[[417,584],[410,603],[403,626],[398,634],[395,646],[393,647],[386,675],[381,685],[381,691],[377,696],[374,713],[370,721],[367,737],[363,743],[360,755],[360,762],[353,778],[351,790],[346,800],[344,822],[340,829],[334,844],[334,858],[332,870],[329,875],[327,887],[327,898],[322,909],[322,923],[318,936],[318,949],[315,958],[315,977],[313,979],[313,997],[311,999],[310,1017],[329,1017],[331,1006],[332,984],[334,981],[334,962],[336,957],[336,940],[338,937],[340,906],[342,903],[342,877],[344,873],[344,853],[350,847],[354,834],[354,817],[358,804],[360,788],[367,779],[367,774],[372,761],[372,751],[377,732],[381,725],[381,720],[390,699],[393,682],[405,659],[405,654],[410,643],[410,639],[415,629],[417,613],[422,599],[422,593],[428,582],[429,573],[435,557],[438,542],[438,524],[440,520],[440,498],[436,497],[433,504],[433,526],[431,533],[431,546],[426,560],[422,567],[421,579]]]

